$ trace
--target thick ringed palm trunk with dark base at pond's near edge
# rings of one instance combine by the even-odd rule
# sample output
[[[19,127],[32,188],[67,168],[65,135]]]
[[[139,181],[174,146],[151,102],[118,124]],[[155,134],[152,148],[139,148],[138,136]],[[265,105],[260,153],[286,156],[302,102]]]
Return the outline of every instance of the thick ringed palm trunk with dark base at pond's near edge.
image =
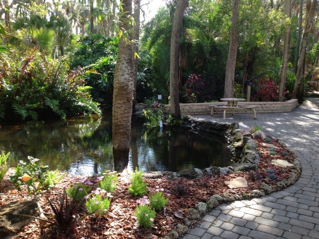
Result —
[[[122,1],[119,27],[123,32],[131,32],[129,17],[132,15],[132,0]],[[127,37],[129,39],[124,39]],[[129,162],[130,134],[133,99],[132,35],[122,35],[114,73],[112,143],[114,169],[122,172]]]

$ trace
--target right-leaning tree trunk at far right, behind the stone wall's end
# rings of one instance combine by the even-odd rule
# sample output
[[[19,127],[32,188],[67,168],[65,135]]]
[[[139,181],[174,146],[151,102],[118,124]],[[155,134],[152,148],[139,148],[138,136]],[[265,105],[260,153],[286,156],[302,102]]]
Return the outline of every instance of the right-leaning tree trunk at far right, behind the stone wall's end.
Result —
[[[311,0],[308,0],[307,3],[309,3],[309,2],[311,2]],[[309,4],[307,4],[307,5],[309,5]],[[315,20],[316,7],[317,7],[317,0],[313,0],[311,3],[310,11],[309,11],[308,18],[306,21],[306,26],[304,29],[303,39],[301,42],[300,58],[298,61],[297,76],[296,76],[296,81],[295,81],[295,85],[294,85],[294,90],[292,93],[292,99],[296,99],[299,83],[300,83],[301,79],[304,77],[303,76],[303,72],[304,72],[303,69],[304,69],[305,58],[306,58],[307,40],[308,40],[308,35],[310,33],[311,26]]]

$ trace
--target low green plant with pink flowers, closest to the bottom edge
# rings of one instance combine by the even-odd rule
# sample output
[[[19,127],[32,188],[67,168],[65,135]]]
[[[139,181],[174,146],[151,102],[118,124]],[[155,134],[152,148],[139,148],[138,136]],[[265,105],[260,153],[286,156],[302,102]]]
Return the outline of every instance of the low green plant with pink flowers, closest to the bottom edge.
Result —
[[[147,201],[145,198],[142,199],[141,204],[137,206],[134,212],[138,224],[143,228],[151,228],[156,215],[156,212],[150,207],[149,203],[150,201]]]

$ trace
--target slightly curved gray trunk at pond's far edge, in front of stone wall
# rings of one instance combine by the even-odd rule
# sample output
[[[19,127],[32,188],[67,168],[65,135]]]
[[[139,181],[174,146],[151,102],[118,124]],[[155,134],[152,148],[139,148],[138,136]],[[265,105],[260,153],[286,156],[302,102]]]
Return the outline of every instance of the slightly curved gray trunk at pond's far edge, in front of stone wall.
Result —
[[[173,27],[170,38],[170,65],[169,65],[169,96],[170,111],[172,116],[180,119],[179,92],[178,92],[178,70],[179,70],[179,36],[183,14],[186,9],[187,0],[177,0],[173,18]]]

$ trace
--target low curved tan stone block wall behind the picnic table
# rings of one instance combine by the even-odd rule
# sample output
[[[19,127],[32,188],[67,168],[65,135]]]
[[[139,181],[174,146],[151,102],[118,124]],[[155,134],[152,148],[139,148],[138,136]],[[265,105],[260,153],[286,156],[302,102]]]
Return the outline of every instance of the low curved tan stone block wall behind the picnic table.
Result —
[[[210,106],[226,104],[225,102],[214,103],[193,103],[179,104],[180,113],[183,115],[205,115],[210,114]],[[289,100],[286,102],[239,102],[240,105],[254,105],[257,113],[270,112],[290,112],[298,107],[298,100]],[[164,105],[165,112],[170,111],[169,105]],[[216,109],[216,112],[222,112],[222,109]],[[236,109],[235,113],[252,113],[249,109]]]

